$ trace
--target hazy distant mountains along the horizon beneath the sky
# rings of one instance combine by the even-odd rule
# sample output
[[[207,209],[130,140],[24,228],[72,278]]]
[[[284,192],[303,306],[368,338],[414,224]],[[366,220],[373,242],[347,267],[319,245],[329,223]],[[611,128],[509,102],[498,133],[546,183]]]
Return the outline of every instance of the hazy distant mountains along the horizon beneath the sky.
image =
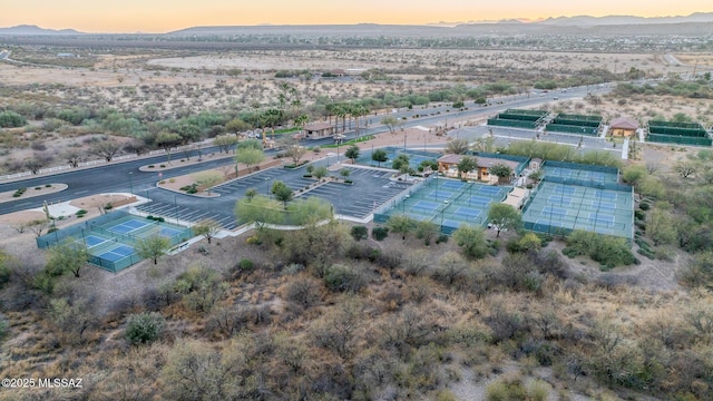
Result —
[[[547,18],[543,20],[527,20],[527,19],[506,19],[500,21],[468,21],[468,22],[438,22],[429,23],[426,26],[394,26],[394,25],[378,25],[378,23],[356,23],[356,25],[314,25],[314,26],[216,26],[216,27],[192,27],[180,29],[173,32],[167,32],[168,36],[185,36],[185,35],[226,35],[234,32],[284,32],[295,31],[302,33],[319,33],[324,31],[336,30],[342,35],[363,35],[369,32],[383,32],[388,31],[413,31],[426,30],[436,31],[442,29],[456,28],[456,30],[488,30],[492,33],[506,33],[512,30],[524,31],[540,31],[548,30],[548,28],[557,29],[592,29],[596,27],[621,27],[624,30],[631,29],[632,26],[646,26],[645,30],[653,29],[653,26],[662,25],[695,25],[696,29],[705,28],[705,25],[713,23],[713,12],[695,12],[690,16],[675,16],[675,17],[634,17],[634,16],[606,16],[606,17],[589,17],[589,16],[576,16],[576,17],[557,17]],[[703,27],[701,27],[703,25]],[[629,28],[626,28],[629,27]],[[707,29],[704,29],[707,30]],[[426,33],[426,32],[422,32]],[[442,33],[442,32],[440,32]],[[33,25],[21,25],[10,28],[0,28],[0,36],[45,36],[45,35],[88,35],[79,32],[75,29],[45,29]]]

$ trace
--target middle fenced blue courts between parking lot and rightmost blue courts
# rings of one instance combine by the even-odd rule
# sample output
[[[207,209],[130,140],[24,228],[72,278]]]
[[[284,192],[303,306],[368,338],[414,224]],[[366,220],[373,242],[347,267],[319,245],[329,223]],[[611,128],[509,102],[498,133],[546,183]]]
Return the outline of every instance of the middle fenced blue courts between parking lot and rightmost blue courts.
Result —
[[[510,186],[492,186],[458,179],[430,177],[417,184],[409,194],[392,199],[374,213],[375,223],[406,215],[419,222],[431,222],[445,234],[462,224],[486,225],[491,203],[502,202]]]

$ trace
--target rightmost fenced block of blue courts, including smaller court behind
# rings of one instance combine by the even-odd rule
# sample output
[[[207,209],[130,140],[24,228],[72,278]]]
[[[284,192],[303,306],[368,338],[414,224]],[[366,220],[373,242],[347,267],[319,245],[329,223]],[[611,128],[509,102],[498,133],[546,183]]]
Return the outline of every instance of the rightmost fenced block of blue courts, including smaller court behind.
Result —
[[[561,235],[584,229],[633,239],[634,189],[617,184],[616,168],[551,162],[544,168],[544,179],[522,208],[525,228]]]

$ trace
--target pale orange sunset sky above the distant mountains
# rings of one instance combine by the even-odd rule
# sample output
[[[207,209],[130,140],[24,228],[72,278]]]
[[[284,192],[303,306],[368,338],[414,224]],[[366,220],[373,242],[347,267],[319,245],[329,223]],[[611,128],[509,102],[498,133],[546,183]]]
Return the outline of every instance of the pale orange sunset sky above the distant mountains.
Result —
[[[0,27],[167,32],[196,26],[398,23],[711,12],[711,0],[9,0]]]

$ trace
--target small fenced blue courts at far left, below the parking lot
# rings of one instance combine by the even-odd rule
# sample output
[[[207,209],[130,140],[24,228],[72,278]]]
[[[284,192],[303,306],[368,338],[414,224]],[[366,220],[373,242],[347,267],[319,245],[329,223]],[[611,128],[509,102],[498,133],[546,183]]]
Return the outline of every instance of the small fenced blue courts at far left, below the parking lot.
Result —
[[[89,263],[117,273],[143,260],[136,252],[136,245],[154,235],[167,238],[172,246],[194,236],[187,227],[116,211],[42,235],[37,238],[37,246],[47,248],[65,243],[85,247]]]

